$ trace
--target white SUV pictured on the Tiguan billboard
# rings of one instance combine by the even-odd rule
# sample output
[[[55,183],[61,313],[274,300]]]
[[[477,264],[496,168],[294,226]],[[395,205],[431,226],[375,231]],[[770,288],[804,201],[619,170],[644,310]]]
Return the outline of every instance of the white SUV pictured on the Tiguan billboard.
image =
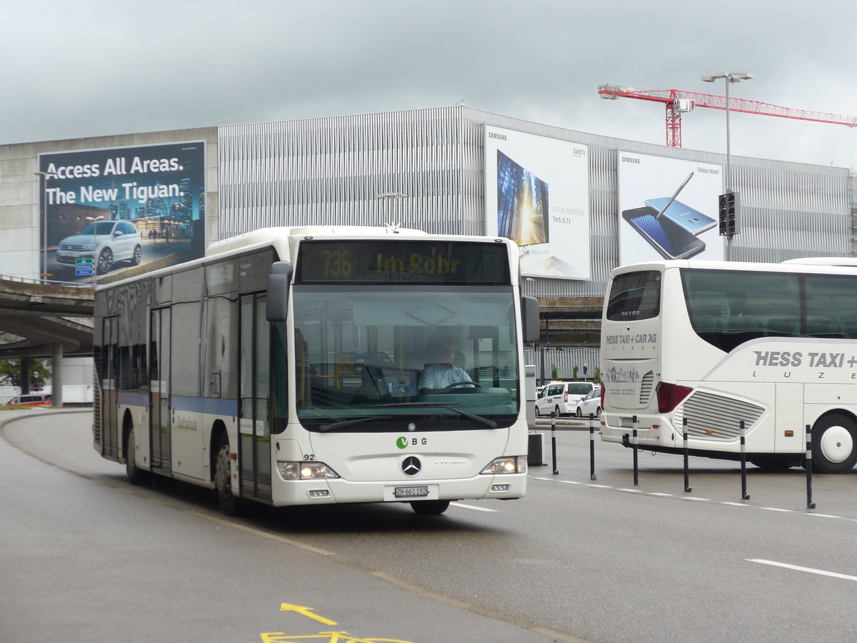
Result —
[[[143,237],[129,221],[93,221],[57,247],[58,264],[74,267],[77,259],[93,259],[96,274],[109,273],[117,261],[136,266],[142,257]]]

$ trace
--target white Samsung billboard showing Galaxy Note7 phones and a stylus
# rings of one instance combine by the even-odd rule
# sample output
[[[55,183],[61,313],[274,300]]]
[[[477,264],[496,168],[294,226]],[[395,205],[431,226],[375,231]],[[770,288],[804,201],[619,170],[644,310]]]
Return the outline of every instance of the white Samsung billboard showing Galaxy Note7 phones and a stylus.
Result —
[[[619,263],[723,260],[722,165],[619,151]]]

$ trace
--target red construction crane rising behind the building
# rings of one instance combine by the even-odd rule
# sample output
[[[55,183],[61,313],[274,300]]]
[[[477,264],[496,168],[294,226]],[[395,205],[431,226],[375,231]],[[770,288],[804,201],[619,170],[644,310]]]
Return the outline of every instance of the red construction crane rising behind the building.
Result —
[[[710,93],[684,92],[680,89],[637,89],[620,85],[599,85],[598,93],[602,99],[650,100],[663,103],[667,108],[667,145],[681,147],[681,114],[693,111],[695,107],[711,107],[716,110],[726,109],[726,97]],[[729,111],[743,111],[746,114],[761,114],[780,118],[795,118],[801,121],[815,123],[833,123],[857,127],[857,117],[842,114],[825,114],[823,111],[793,110],[789,107],[760,103],[758,100],[729,98]]]

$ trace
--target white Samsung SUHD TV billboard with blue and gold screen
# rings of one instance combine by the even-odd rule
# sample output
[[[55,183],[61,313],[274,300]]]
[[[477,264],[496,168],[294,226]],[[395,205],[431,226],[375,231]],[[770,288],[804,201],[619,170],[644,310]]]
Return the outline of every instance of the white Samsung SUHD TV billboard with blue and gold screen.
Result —
[[[518,243],[521,273],[590,278],[589,147],[485,126],[485,234]]]

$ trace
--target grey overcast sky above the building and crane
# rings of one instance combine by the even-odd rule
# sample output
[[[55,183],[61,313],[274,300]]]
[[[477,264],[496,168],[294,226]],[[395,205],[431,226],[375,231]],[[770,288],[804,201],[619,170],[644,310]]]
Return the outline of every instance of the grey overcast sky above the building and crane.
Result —
[[[664,108],[598,85],[857,116],[857,2],[29,0],[3,3],[0,144],[466,105],[665,143]],[[857,165],[857,129],[733,113],[732,153]],[[723,111],[683,147],[724,153]]]

